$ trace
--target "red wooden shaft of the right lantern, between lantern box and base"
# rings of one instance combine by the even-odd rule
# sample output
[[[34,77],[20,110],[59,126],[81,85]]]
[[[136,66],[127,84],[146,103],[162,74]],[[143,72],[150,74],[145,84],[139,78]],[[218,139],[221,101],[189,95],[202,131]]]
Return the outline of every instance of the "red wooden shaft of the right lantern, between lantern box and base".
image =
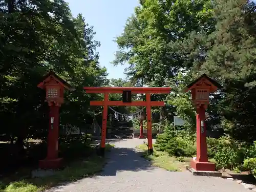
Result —
[[[205,109],[203,106],[197,108],[197,161],[208,162],[205,127]]]

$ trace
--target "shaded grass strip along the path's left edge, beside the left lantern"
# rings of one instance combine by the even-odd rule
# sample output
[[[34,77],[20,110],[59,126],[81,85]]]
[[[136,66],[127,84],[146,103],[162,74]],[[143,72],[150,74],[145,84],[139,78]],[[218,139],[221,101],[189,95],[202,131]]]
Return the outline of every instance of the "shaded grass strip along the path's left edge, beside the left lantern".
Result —
[[[105,150],[110,151],[114,145],[106,144]],[[105,159],[93,154],[88,158],[81,158],[71,162],[63,170],[56,171],[55,175],[42,178],[16,179],[9,178],[0,181],[0,191],[4,192],[38,192],[56,186],[59,183],[72,182],[100,172],[105,165]],[[27,170],[27,174],[30,170]],[[8,181],[9,180],[9,181]]]

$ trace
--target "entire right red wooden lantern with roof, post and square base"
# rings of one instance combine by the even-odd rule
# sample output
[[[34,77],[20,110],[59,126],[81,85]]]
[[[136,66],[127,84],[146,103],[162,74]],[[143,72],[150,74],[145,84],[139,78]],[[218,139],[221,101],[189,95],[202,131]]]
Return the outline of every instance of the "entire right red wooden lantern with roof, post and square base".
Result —
[[[209,93],[223,88],[206,74],[191,82],[185,91],[191,90],[192,100],[197,108],[197,158],[191,160],[195,170],[215,171],[215,163],[208,162],[206,145],[205,109],[209,104]]]

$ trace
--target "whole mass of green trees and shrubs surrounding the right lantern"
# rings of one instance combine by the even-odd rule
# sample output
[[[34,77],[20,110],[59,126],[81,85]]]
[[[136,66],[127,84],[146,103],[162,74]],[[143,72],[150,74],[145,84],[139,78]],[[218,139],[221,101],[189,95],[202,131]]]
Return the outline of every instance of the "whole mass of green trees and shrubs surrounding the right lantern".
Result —
[[[127,19],[114,65],[127,62],[127,77],[138,85],[173,88],[153,96],[167,103],[158,150],[195,155],[195,109],[181,90],[206,73],[224,87],[211,95],[206,111],[207,134],[217,137],[207,139],[209,157],[233,169],[256,155],[255,7],[244,0],[143,0]],[[183,130],[174,130],[174,115],[187,121]],[[246,167],[253,168],[249,161]]]

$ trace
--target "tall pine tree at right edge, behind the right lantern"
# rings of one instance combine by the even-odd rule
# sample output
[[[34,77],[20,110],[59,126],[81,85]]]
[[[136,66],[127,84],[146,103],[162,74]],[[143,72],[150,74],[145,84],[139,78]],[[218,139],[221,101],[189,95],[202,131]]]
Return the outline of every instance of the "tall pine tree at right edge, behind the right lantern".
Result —
[[[247,1],[218,1],[216,31],[208,41],[214,42],[207,52],[202,71],[223,82],[225,95],[219,105],[223,121],[232,122],[225,130],[236,139],[253,141],[255,131],[255,4]]]

